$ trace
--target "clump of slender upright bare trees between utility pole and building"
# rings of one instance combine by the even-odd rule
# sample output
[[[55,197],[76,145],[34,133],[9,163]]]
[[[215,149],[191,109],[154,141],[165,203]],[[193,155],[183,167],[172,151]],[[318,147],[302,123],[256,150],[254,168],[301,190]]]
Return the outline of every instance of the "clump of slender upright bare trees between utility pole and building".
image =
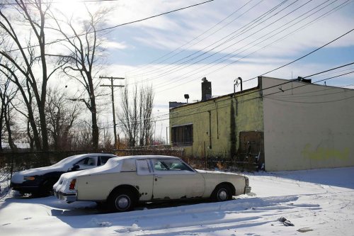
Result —
[[[127,135],[128,146],[147,146],[152,144],[153,123],[152,108],[154,105],[154,91],[152,86],[135,86],[132,99],[129,98],[128,86],[122,89],[122,108],[118,118],[121,129]]]

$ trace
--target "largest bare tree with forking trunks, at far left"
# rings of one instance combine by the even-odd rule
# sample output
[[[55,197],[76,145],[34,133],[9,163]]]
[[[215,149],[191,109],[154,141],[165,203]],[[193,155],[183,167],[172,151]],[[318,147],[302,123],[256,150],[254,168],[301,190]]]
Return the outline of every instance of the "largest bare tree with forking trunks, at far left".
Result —
[[[18,38],[16,30],[13,28],[13,22],[9,20],[7,16],[4,15],[4,12],[0,9],[0,28],[4,30],[8,39],[11,40],[10,45],[13,45],[14,48],[18,50],[18,53],[14,55],[11,54],[11,50],[5,50],[1,48],[0,55],[2,55],[6,60],[11,63],[14,67],[12,71],[13,74],[13,83],[18,86],[18,89],[21,91],[23,100],[26,108],[28,109],[28,120],[30,127],[33,131],[33,138],[35,141],[35,147],[37,150],[48,150],[48,135],[47,135],[47,123],[45,118],[45,104],[47,96],[47,82],[50,79],[50,76],[57,70],[59,67],[56,67],[49,74],[47,72],[47,60],[46,60],[46,49],[45,49],[45,20],[47,16],[47,11],[49,10],[50,3],[42,3],[42,0],[15,0],[16,9],[18,11],[18,16],[21,16],[23,19],[23,25],[28,26],[30,33],[35,35],[37,44],[39,45],[39,56],[35,56],[35,47],[32,47],[30,43],[23,46],[24,43],[21,43],[21,38]],[[39,17],[37,17],[39,16]],[[30,35],[31,35],[30,34]],[[26,41],[31,42],[30,39]],[[11,47],[11,49],[13,49]],[[35,74],[36,61],[40,62],[40,71],[42,73],[42,78],[38,80],[38,75]],[[4,66],[0,62],[1,66]],[[5,67],[8,70],[11,70],[11,67]],[[14,76],[18,73],[18,76]],[[18,78],[25,78],[26,84],[28,86],[28,93],[22,88],[23,83],[18,80]],[[38,84],[41,84],[39,86]],[[40,90],[38,90],[40,87]],[[33,94],[35,98],[35,105],[38,107],[38,115],[40,122],[40,129],[35,123],[34,117],[34,108],[32,103],[32,98],[27,97],[28,94]],[[31,95],[30,95],[31,96]],[[23,113],[23,112],[22,112]]]

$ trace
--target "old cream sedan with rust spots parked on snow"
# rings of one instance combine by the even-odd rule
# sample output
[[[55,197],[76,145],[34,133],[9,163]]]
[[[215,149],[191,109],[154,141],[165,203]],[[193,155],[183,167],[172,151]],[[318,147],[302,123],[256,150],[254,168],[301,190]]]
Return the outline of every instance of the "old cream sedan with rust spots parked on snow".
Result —
[[[212,198],[227,201],[249,193],[241,174],[197,171],[178,157],[115,157],[95,169],[62,174],[53,186],[62,201],[107,202],[111,210],[132,210],[138,202]]]

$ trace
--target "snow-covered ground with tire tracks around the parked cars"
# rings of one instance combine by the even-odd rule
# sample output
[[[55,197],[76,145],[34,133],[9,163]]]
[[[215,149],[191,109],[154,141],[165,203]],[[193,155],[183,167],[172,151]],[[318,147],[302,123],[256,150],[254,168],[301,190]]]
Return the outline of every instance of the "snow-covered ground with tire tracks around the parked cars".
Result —
[[[354,167],[249,177],[251,194],[233,201],[142,206],[128,213],[10,191],[0,200],[0,235],[354,235]]]

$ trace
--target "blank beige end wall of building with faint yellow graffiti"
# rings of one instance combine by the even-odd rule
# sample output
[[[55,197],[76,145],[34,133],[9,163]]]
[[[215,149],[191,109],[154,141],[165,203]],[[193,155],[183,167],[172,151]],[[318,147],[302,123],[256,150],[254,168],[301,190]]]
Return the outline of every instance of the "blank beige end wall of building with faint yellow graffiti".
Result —
[[[265,169],[354,166],[354,90],[285,82],[262,79]]]

